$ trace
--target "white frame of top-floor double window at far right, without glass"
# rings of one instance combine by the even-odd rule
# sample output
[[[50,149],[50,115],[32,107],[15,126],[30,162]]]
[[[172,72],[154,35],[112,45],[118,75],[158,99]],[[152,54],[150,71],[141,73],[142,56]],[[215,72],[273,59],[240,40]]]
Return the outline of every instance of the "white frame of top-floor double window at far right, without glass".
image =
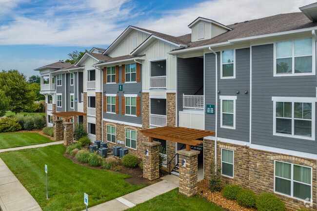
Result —
[[[300,39],[306,39],[306,38],[300,38]],[[278,42],[283,42],[283,41],[292,41],[292,73],[277,73],[277,57],[276,57],[276,43],[278,42],[274,42],[274,53],[273,53],[273,57],[274,57],[274,64],[273,64],[273,76],[274,77],[287,77],[287,76],[315,76],[316,75],[316,41],[315,38],[312,38],[312,55],[305,55],[305,56],[312,56],[312,72],[311,73],[295,73],[295,57],[303,57],[303,56],[295,56],[295,40],[299,40],[299,39],[287,39],[287,40],[281,40]],[[282,57],[281,57],[282,58]],[[290,58],[290,57],[286,57],[286,58]]]

